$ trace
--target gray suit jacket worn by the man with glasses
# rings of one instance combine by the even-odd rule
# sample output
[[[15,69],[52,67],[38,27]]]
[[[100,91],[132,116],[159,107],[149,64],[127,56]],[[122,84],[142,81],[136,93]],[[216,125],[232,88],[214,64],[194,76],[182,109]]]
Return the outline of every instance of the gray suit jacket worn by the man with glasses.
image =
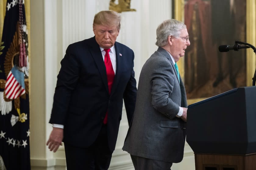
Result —
[[[142,67],[135,111],[123,150],[158,161],[180,162],[185,144],[185,125],[176,117],[187,107],[184,84],[178,81],[169,53],[161,47]]]

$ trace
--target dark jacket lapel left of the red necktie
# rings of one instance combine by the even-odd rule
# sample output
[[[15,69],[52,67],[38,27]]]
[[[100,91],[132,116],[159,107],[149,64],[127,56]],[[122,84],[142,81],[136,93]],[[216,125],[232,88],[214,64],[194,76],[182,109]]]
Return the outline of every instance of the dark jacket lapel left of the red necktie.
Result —
[[[107,73],[106,73],[106,66],[102,59],[102,53],[101,53],[100,47],[95,40],[95,36],[91,39],[90,46],[91,46],[91,49],[90,49],[91,55],[99,69],[101,78],[108,92],[108,79],[107,79]]]

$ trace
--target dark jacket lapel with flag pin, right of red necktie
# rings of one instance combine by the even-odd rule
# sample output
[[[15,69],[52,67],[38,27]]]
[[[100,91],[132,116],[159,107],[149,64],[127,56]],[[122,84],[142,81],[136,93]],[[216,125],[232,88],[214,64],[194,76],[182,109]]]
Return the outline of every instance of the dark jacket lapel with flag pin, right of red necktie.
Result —
[[[113,85],[112,85],[111,94],[114,93],[114,91],[117,87],[118,81],[120,79],[120,71],[122,69],[121,66],[123,66],[123,64],[124,64],[123,60],[122,60],[122,58],[124,56],[120,56],[121,51],[120,51],[119,45],[117,43],[115,43],[115,50],[116,50],[116,75],[115,75],[115,79],[114,79],[114,82],[113,82]]]

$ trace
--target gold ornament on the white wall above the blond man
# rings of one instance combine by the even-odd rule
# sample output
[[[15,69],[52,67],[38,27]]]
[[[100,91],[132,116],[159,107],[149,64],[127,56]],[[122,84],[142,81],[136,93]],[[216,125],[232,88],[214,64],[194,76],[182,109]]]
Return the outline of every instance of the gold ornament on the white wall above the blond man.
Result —
[[[136,11],[136,9],[130,9],[130,0],[118,0],[118,4],[115,3],[116,0],[110,0],[109,10],[116,11],[118,13],[126,11]]]

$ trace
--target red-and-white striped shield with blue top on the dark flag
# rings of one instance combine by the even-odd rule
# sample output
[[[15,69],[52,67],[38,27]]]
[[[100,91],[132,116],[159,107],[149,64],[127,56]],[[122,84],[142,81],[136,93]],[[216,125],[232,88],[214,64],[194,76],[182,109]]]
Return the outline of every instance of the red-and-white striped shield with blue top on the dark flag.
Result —
[[[16,99],[25,93],[24,73],[14,66],[7,76],[5,95],[8,99]]]

